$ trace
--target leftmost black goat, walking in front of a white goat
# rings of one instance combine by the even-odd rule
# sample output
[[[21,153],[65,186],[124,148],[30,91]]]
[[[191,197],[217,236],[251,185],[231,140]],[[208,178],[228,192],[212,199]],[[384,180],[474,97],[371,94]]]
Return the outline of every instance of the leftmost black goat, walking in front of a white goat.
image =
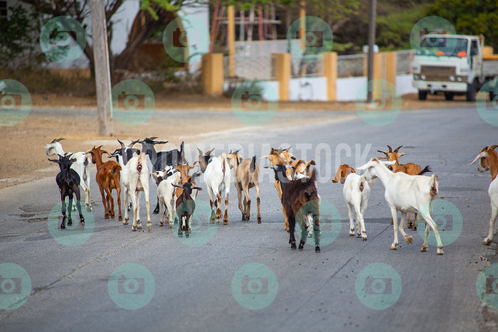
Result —
[[[81,214],[81,204],[80,204],[80,176],[73,168],[70,168],[71,165],[76,161],[76,159],[70,159],[70,156],[60,156],[58,154],[59,159],[48,159],[55,164],[59,165],[60,172],[55,176],[55,182],[57,182],[57,186],[60,191],[60,203],[62,203],[62,214],[63,214],[63,222],[60,224],[60,228],[65,228],[65,197],[69,198],[69,208],[68,208],[68,225],[73,225],[73,220],[71,218],[71,206],[73,206],[73,194],[76,196],[76,208],[78,209],[78,215],[80,215],[80,224],[82,227],[85,227],[85,218]]]

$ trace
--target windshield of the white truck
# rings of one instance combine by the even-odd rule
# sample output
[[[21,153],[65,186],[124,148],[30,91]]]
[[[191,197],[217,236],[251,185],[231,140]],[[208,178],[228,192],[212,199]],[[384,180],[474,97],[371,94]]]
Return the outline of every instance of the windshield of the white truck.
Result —
[[[467,43],[465,38],[424,37],[415,54],[464,57],[467,56]]]

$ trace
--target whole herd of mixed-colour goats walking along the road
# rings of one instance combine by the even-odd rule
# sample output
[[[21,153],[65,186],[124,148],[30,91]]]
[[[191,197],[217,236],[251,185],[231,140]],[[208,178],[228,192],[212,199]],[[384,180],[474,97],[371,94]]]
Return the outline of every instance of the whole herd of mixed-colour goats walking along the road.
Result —
[[[156,141],[157,137],[144,140],[132,141],[125,146],[122,141],[120,148],[112,154],[102,150],[101,147],[93,147],[86,152],[65,153],[60,141],[53,139],[51,143],[43,146],[47,156],[58,156],[58,159],[48,159],[59,165],[60,173],[55,181],[60,189],[60,200],[62,203],[63,220],[60,228],[64,229],[66,221],[72,225],[71,210],[78,210],[80,225],[85,226],[85,218],[81,213],[80,186],[85,190],[85,205],[87,210],[90,206],[90,166],[97,166],[95,177],[102,195],[102,203],[105,210],[105,219],[115,218],[114,199],[111,191],[117,191],[118,218],[122,219],[121,213],[121,188],[124,188],[124,220],[128,225],[128,210],[133,210],[132,230],[142,229],[139,220],[139,201],[141,192],[144,192],[147,208],[147,230],[150,231],[152,223],[149,208],[149,178],[152,176],[157,183],[157,206],[154,213],[159,213],[160,225],[169,223],[173,227],[178,220],[178,235],[189,237],[191,232],[189,220],[196,208],[195,198],[202,188],[196,186],[196,177],[203,173],[203,179],[207,186],[208,196],[211,203],[210,223],[219,223],[222,217],[221,198],[225,196],[225,213],[223,224],[228,224],[228,193],[231,185],[231,169],[235,171],[234,183],[238,192],[238,207],[242,213],[242,220],[250,219],[250,197],[249,189],[255,188],[256,203],[258,207],[257,220],[261,223],[260,215],[260,169],[256,162],[256,156],[252,159],[243,159],[238,151],[223,152],[220,156],[213,156],[214,149],[203,152],[198,149],[198,159],[189,165],[184,159],[184,143],[180,149],[171,151],[156,151],[154,145],[166,144],[167,141]],[[134,144],[142,144],[142,150],[134,148]],[[399,157],[403,153],[398,152],[402,146],[388,151],[380,151],[384,156],[373,158],[365,165],[358,167],[364,170],[359,176],[349,165],[341,165],[337,170],[332,182],[344,183],[343,196],[349,210],[349,235],[367,239],[364,223],[364,211],[367,207],[370,186],[374,178],[378,178],[384,188],[384,198],[391,209],[394,230],[394,241],[390,249],[395,250],[398,245],[398,230],[406,242],[412,243],[413,239],[404,230],[408,215],[408,227],[416,230],[417,220],[425,220],[425,237],[421,251],[427,250],[427,239],[429,229],[435,233],[438,243],[438,255],[443,255],[443,243],[435,224],[431,210],[435,196],[438,194],[438,176],[424,176],[423,173],[430,172],[426,166],[409,163],[400,164]],[[492,182],[489,185],[489,198],[491,200],[492,215],[489,220],[489,235],[482,242],[489,245],[493,240],[494,222],[498,215],[498,145],[485,146],[469,165],[477,164],[480,172],[490,171]],[[299,249],[302,250],[308,236],[314,238],[315,252],[320,251],[320,196],[317,193],[317,172],[312,165],[314,161],[296,159],[287,149],[270,149],[270,154],[261,157],[268,159],[270,166],[275,172],[274,185],[282,203],[282,211],[285,218],[285,230],[290,232],[289,243],[291,249],[296,249],[295,222],[301,228],[301,240]],[[116,161],[102,161],[102,154],[114,157]],[[385,160],[382,160],[385,159]],[[189,175],[191,168],[199,167],[199,171]],[[243,195],[242,195],[243,193]],[[66,215],[65,198],[68,197],[68,215]],[[73,196],[75,201],[73,202]],[[176,199],[175,199],[176,198]],[[131,199],[131,203],[129,200]],[[166,206],[166,211],[164,207]],[[398,228],[398,211],[401,212],[401,223]],[[413,220],[410,213],[414,213]],[[356,215],[356,224],[354,223]]]

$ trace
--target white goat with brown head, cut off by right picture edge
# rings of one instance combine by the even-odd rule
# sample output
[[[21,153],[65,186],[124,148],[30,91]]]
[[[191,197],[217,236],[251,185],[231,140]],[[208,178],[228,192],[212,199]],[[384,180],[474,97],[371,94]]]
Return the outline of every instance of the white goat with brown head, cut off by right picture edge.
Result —
[[[494,223],[497,221],[498,217],[498,152],[494,151],[498,145],[484,146],[474,161],[469,165],[474,164],[477,159],[480,159],[479,164],[477,164],[477,170],[485,172],[489,170],[491,173],[492,181],[489,184],[487,194],[489,195],[489,200],[491,200],[491,219],[489,219],[489,234],[482,241],[483,245],[489,245],[494,237]]]

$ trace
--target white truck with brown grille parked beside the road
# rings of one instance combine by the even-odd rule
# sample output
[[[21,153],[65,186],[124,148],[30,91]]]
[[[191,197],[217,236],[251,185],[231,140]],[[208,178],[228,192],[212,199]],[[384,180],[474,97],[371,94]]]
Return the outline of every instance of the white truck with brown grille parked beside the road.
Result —
[[[482,85],[498,79],[498,55],[489,46],[484,48],[482,36],[446,35],[430,33],[420,38],[413,55],[413,87],[418,99],[444,93],[446,100],[466,95],[475,101]],[[497,95],[498,86],[489,85],[489,99]]]

